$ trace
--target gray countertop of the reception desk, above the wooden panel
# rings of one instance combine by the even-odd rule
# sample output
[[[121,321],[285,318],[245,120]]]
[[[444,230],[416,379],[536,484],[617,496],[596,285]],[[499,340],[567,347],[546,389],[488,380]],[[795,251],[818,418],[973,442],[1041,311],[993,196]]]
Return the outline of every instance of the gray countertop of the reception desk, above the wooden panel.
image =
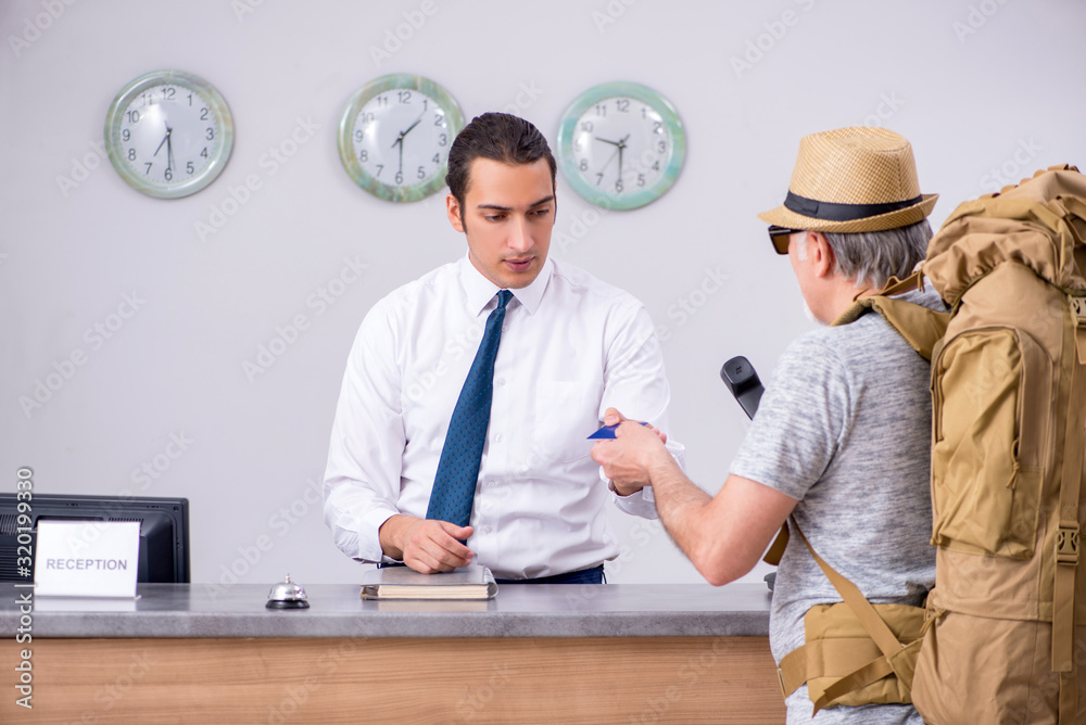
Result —
[[[310,609],[269,610],[270,584],[141,584],[123,603],[37,597],[27,625],[0,582],[0,636],[737,637],[769,632],[762,584],[503,584],[489,601],[368,601],[355,584],[306,584]],[[112,611],[103,611],[102,607]],[[121,610],[121,611],[118,611]],[[127,610],[127,611],[125,611]]]

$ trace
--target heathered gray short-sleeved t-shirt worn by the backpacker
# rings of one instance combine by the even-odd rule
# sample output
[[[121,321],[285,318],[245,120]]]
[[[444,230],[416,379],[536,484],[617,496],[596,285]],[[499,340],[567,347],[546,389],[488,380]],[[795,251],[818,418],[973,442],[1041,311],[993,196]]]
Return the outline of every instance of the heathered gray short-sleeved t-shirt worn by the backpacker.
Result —
[[[904,298],[942,309],[932,292]],[[935,585],[930,546],[930,364],[877,313],[803,335],[785,351],[731,472],[799,500],[794,516],[822,559],[877,603],[919,606]],[[778,569],[770,645],[804,644],[810,607],[841,601],[799,537]],[[788,723],[810,723],[807,686]],[[817,723],[915,723],[911,705],[830,708]]]

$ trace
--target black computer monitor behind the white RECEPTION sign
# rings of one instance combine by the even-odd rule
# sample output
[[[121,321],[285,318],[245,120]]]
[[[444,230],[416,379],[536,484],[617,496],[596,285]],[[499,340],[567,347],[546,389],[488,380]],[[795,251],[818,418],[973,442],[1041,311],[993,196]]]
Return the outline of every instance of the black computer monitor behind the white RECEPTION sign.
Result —
[[[16,568],[17,504],[15,494],[0,494],[0,581],[29,581]],[[35,493],[29,501],[37,544],[38,522],[138,521],[137,582],[189,582],[189,499],[123,496],[79,496]],[[23,543],[26,543],[24,537]],[[23,551],[25,555],[25,549]]]

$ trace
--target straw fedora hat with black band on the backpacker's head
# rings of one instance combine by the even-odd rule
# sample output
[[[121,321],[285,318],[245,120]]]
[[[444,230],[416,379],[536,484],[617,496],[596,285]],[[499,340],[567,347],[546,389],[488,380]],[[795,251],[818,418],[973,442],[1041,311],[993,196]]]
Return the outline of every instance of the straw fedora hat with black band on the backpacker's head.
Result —
[[[805,136],[784,204],[762,221],[804,231],[882,231],[927,218],[938,194],[921,194],[912,147],[885,128]]]

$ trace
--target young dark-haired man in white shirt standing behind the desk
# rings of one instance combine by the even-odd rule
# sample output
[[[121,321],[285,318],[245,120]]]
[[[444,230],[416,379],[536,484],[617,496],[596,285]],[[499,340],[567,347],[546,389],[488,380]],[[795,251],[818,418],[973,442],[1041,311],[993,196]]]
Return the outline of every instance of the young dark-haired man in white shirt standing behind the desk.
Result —
[[[608,499],[655,518],[651,495],[608,488],[585,437],[609,407],[666,429],[659,342],[640,302],[548,258],[555,170],[546,139],[515,116],[483,114],[454,141],[446,211],[467,255],[378,302],[348,359],[324,484],[325,520],[348,556],[598,583],[618,555]],[[512,297],[470,521],[428,519],[450,419],[502,290]]]

